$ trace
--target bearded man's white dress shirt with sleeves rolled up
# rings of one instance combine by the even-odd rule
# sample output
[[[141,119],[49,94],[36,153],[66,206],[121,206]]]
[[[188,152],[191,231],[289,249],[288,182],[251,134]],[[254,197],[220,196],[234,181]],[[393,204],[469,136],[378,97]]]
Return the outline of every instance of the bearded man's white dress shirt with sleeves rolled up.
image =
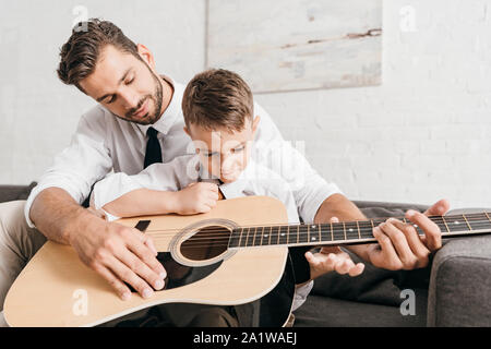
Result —
[[[163,76],[173,86],[169,106],[152,127],[158,131],[163,161],[193,154],[194,146],[184,133],[181,101],[184,85]],[[289,142],[285,142],[267,112],[254,103],[254,116],[261,121],[255,133],[255,147],[251,157],[279,173],[292,189],[296,206],[304,222],[313,222],[322,202],[334,193],[340,193],[334,183],[327,183],[309,165],[307,159]],[[111,170],[136,174],[143,170],[146,148],[146,130],[116,117],[101,105],[84,113],[71,144],[55,158],[55,164],[38,180],[25,205],[25,218],[29,227],[29,210],[40,191],[50,186],[65,190],[82,203],[94,183]]]

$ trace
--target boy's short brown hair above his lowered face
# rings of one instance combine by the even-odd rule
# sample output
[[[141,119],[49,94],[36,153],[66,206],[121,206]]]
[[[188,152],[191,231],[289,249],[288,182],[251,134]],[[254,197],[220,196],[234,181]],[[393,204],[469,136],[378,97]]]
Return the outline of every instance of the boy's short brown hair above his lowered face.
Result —
[[[195,75],[185,87],[182,113],[187,127],[208,131],[225,128],[242,131],[246,120],[253,119],[254,105],[248,84],[236,73],[209,69]]]

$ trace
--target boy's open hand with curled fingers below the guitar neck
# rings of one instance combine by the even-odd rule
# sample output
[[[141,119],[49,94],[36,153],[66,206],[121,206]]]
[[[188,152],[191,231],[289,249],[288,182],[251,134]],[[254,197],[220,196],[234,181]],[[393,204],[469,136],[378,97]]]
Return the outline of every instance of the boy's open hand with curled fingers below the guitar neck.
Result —
[[[331,222],[337,221],[336,217],[331,219]],[[339,246],[324,246],[318,253],[309,251],[306,253],[306,258],[310,264],[310,278],[312,280],[330,272],[358,276],[364,269],[363,263],[355,264],[349,254],[343,252]]]

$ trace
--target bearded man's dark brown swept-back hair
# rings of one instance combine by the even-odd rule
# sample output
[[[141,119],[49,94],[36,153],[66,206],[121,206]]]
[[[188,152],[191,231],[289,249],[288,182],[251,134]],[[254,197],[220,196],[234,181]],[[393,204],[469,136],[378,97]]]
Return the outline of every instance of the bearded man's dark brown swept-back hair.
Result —
[[[75,25],[69,40],[61,47],[61,61],[57,70],[60,80],[83,91],[79,83],[94,72],[100,51],[107,45],[142,60],[136,45],[118,26],[91,19]]]

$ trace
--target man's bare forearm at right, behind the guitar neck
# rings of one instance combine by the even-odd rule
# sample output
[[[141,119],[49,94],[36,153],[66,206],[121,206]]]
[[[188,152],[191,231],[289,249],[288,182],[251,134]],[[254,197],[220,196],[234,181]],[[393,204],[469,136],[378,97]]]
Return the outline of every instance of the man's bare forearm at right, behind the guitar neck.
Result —
[[[314,221],[328,222],[332,217],[337,217],[342,221],[367,219],[363,213],[343,194],[333,194],[324,200]],[[369,262],[367,245],[350,245],[347,249]]]

